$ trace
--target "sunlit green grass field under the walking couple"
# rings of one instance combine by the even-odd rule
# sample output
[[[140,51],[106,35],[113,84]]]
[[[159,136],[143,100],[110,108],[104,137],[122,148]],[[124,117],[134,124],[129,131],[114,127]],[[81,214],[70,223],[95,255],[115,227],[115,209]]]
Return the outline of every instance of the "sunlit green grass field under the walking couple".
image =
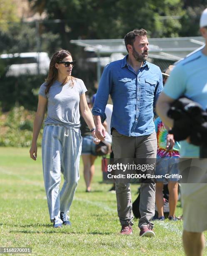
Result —
[[[100,159],[91,193],[85,193],[80,164],[81,178],[70,210],[72,226],[54,229],[40,154],[39,148],[37,161],[32,161],[28,148],[0,148],[0,247],[31,247],[37,255],[184,255],[181,221],[155,221],[156,237],[141,238],[135,220],[132,236],[119,235],[116,197],[107,192],[111,184],[100,183]],[[131,189],[135,200],[137,185]],[[180,204],[176,213],[182,214]]]

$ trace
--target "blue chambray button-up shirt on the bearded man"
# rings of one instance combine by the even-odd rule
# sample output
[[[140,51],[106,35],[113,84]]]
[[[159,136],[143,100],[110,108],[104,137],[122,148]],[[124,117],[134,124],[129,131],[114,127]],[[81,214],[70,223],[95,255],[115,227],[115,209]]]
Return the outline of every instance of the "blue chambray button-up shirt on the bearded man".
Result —
[[[153,107],[163,89],[162,73],[158,66],[145,61],[136,74],[127,64],[127,56],[105,67],[92,114],[100,115],[104,122],[105,107],[111,95],[111,129],[125,136],[149,135],[155,131]]]

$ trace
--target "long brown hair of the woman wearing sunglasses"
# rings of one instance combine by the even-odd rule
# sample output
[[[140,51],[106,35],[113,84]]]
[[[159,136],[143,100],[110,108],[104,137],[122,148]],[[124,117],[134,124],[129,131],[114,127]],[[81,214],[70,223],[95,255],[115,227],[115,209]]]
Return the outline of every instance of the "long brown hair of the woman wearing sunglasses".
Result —
[[[55,80],[57,80],[57,69],[55,67],[55,63],[58,63],[59,61],[62,61],[62,59],[64,59],[67,56],[72,56],[70,51],[67,50],[59,50],[56,51],[53,55],[52,58],[50,60],[50,67],[49,67],[49,73],[47,78],[45,79],[46,84],[46,89],[45,89],[45,94],[47,94],[50,90],[50,87],[52,86],[52,84],[55,82]],[[69,82],[71,80],[72,82],[72,86],[74,85],[74,77],[72,76],[68,76],[66,77],[65,81],[62,83],[62,85],[66,84],[67,82]]]

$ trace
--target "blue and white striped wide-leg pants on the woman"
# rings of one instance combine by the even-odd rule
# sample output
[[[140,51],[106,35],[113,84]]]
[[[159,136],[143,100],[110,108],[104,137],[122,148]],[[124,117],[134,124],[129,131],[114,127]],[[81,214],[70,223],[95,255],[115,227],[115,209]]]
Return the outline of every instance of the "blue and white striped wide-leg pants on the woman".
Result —
[[[42,166],[50,220],[60,221],[67,213],[80,178],[82,137],[79,128],[46,125],[42,138]],[[64,184],[60,191],[60,172]]]

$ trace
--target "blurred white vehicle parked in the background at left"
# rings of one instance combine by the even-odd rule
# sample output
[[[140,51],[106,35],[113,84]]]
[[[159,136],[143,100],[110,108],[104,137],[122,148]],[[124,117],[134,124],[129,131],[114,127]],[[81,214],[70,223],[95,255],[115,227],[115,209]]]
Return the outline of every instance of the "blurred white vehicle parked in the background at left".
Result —
[[[50,65],[50,58],[46,52],[1,54],[0,59],[15,63],[8,67],[7,77],[17,77],[20,74],[47,74]]]

